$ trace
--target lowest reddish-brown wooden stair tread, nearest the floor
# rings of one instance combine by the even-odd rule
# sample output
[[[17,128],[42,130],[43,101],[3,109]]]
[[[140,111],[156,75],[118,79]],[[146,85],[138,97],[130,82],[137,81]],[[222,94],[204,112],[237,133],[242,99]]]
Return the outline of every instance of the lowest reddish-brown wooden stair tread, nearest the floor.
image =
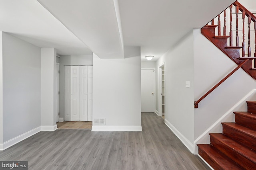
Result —
[[[205,154],[218,166],[223,167],[224,170],[242,170],[239,165],[220,152],[218,149],[210,144],[198,144],[198,147],[204,151]],[[200,153],[199,153],[200,154]],[[212,166],[212,165],[211,165]],[[214,168],[214,167],[213,167]]]

